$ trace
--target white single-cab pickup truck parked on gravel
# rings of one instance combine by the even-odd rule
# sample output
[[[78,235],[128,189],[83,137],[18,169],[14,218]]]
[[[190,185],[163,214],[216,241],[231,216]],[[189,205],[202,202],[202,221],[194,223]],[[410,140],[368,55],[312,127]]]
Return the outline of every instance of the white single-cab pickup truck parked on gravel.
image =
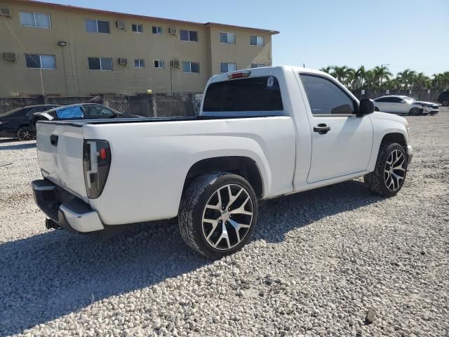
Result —
[[[48,228],[177,217],[210,258],[248,242],[260,200],[361,176],[393,196],[413,156],[406,119],[300,67],[215,75],[194,118],[39,121],[37,152]]]

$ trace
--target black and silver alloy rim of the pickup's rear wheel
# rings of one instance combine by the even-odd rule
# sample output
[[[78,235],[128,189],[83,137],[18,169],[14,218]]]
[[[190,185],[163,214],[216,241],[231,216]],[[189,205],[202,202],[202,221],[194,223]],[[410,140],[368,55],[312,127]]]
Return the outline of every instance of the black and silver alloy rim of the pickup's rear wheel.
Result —
[[[214,249],[226,251],[248,234],[253,221],[253,201],[248,191],[236,184],[215,190],[203,210],[203,236]]]

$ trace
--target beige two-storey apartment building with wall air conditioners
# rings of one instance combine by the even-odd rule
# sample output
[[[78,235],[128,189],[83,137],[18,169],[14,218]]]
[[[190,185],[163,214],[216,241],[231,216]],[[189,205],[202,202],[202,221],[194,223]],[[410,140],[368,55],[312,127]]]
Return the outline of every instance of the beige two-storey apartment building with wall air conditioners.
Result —
[[[0,97],[201,93],[220,72],[272,65],[267,29],[0,0]]]

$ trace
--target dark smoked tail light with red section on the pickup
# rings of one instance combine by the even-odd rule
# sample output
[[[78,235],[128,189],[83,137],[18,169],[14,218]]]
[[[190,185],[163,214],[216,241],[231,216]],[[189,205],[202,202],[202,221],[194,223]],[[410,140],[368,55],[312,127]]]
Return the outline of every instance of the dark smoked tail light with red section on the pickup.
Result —
[[[111,167],[111,148],[106,140],[84,140],[84,182],[89,199],[100,197]]]

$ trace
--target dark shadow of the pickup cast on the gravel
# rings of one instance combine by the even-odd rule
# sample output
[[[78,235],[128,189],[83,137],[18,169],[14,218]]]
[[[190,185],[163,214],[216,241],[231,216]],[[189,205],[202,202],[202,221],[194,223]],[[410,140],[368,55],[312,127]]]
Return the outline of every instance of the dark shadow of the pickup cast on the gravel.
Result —
[[[294,228],[381,199],[349,181],[267,201],[253,240],[281,242]],[[134,225],[106,242],[63,231],[6,242],[0,245],[0,336],[210,263],[167,223]]]

